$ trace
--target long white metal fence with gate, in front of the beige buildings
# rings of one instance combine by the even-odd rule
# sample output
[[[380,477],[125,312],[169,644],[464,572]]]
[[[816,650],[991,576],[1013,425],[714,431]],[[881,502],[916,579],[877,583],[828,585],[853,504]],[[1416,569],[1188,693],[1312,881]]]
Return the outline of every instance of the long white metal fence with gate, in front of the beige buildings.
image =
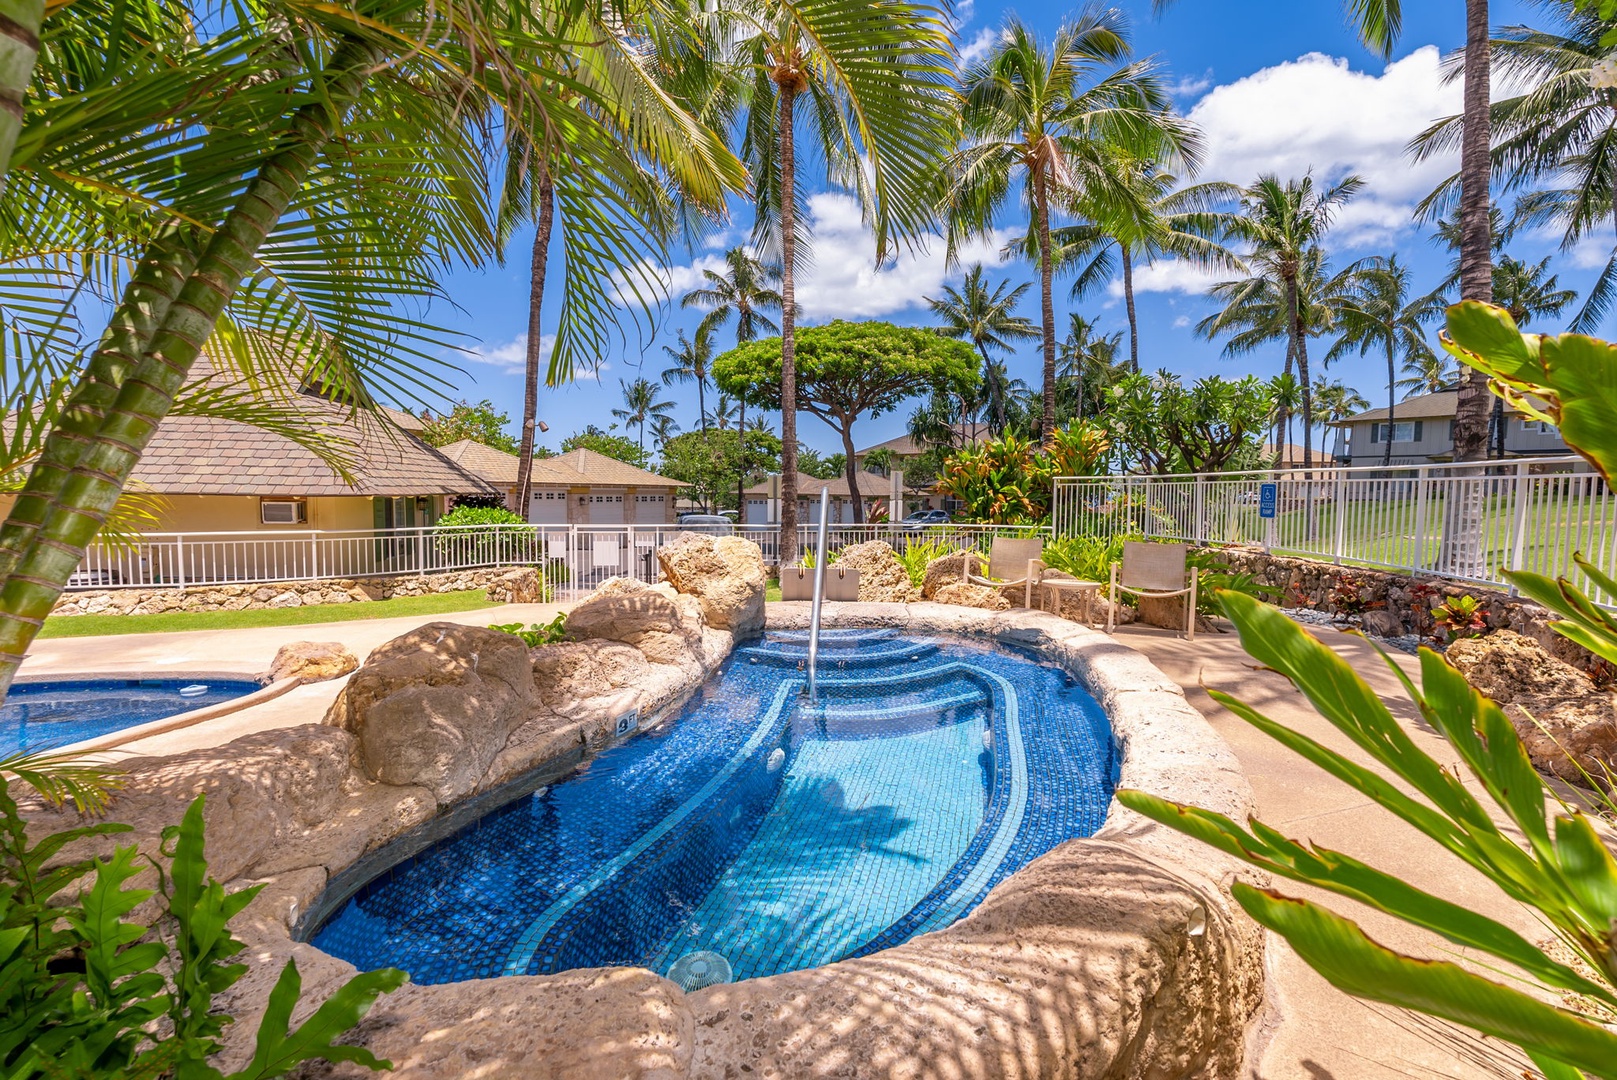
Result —
[[[631,576],[657,582],[657,548],[681,532],[745,537],[779,561],[775,525],[454,525],[388,530],[286,530],[146,534],[134,545],[97,542],[86,553],[68,589],[194,589],[207,585],[272,584],[340,577],[443,574],[496,566],[534,566],[545,580],[569,595],[593,589],[608,577]],[[904,550],[939,542],[952,548],[986,550],[994,534],[1024,530],[994,525],[902,524],[830,525],[828,542],[842,548],[863,540],[886,540]],[[797,530],[797,550],[812,548],[812,525]]]

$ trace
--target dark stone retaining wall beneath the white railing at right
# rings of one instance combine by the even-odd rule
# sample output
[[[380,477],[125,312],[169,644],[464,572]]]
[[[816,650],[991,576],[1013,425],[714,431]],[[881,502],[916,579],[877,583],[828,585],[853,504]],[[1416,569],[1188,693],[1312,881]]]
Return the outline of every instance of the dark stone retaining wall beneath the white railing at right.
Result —
[[[1552,656],[1607,682],[1617,668],[1599,660],[1581,645],[1573,645],[1551,629],[1554,616],[1541,605],[1512,597],[1502,589],[1467,585],[1438,577],[1413,577],[1362,566],[1337,566],[1316,559],[1297,559],[1252,548],[1218,548],[1231,569],[1252,574],[1271,589],[1271,600],[1284,608],[1308,608],[1337,613],[1340,603],[1332,593],[1350,592],[1366,606],[1365,629],[1383,637],[1425,631],[1429,634],[1429,611],[1449,597],[1473,597],[1481,605],[1489,631],[1515,631],[1531,637]]]

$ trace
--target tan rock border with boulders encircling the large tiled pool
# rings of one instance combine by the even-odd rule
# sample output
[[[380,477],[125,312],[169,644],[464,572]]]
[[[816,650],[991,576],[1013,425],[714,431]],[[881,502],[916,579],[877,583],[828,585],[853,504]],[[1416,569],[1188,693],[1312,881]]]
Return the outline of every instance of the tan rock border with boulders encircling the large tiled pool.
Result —
[[[251,970],[220,1001],[238,1017],[220,1067],[251,1056],[288,957],[306,988],[294,1020],[353,973],[294,936],[328,883],[479,812],[513,778],[569,771],[613,742],[626,711],[655,723],[737,635],[762,629],[762,558],[721,543],[686,537],[660,553],[679,589],[608,582],[569,616],[574,640],[529,652],[495,631],[432,624],[378,648],[323,724],[121,763],[129,787],[113,816],[134,826],[133,839],[155,846],[205,791],[213,875],[228,888],[267,886],[234,923]],[[804,626],[807,605],[771,605],[768,619]],[[933,603],[826,605],[826,624],[1033,648],[1106,707],[1125,786],[1237,820],[1252,808],[1232,753],[1179,687],[1101,634],[1043,613]],[[73,815],[34,807],[31,816],[50,829]],[[644,968],[407,985],[353,1040],[412,1080],[1234,1077],[1263,993],[1261,934],[1226,891],[1234,870],[1114,802],[1096,836],[1033,860],[952,926],[886,952],[692,994]]]

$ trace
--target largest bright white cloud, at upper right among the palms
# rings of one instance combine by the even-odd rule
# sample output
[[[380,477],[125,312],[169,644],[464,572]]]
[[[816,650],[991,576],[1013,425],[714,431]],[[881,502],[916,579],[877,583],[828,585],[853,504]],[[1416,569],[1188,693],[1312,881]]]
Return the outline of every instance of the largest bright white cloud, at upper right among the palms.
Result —
[[[1201,176],[1247,184],[1313,170],[1321,181],[1349,173],[1365,189],[1337,218],[1337,243],[1384,243],[1410,225],[1413,205],[1457,167],[1457,155],[1413,162],[1410,139],[1438,116],[1460,112],[1459,82],[1444,84],[1436,45],[1416,49],[1381,74],[1308,53],[1218,86],[1188,116],[1206,137]]]

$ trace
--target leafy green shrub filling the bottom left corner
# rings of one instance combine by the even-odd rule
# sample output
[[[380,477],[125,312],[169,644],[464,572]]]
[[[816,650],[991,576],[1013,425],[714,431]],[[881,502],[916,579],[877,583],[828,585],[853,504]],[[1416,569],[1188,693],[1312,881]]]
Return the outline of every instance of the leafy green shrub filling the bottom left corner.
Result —
[[[244,946],[228,923],[264,886],[225,892],[207,876],[202,795],[163,831],[162,852],[131,844],[103,859],[63,862],[70,844],[129,826],[95,823],[31,844],[6,774],[53,802],[71,797],[81,810],[105,802],[105,774],[95,770],[40,755],[0,760],[0,1075],[225,1080],[209,1057],[231,1017],[213,998],[247,973],[234,962]],[[133,888],[154,865],[157,889]],[[125,922],[152,899],[162,912],[154,925]],[[356,975],[291,1030],[302,986],[288,960],[252,1061],[228,1080],[278,1077],[310,1059],[391,1069],[333,1040],[404,978],[395,968]]]

